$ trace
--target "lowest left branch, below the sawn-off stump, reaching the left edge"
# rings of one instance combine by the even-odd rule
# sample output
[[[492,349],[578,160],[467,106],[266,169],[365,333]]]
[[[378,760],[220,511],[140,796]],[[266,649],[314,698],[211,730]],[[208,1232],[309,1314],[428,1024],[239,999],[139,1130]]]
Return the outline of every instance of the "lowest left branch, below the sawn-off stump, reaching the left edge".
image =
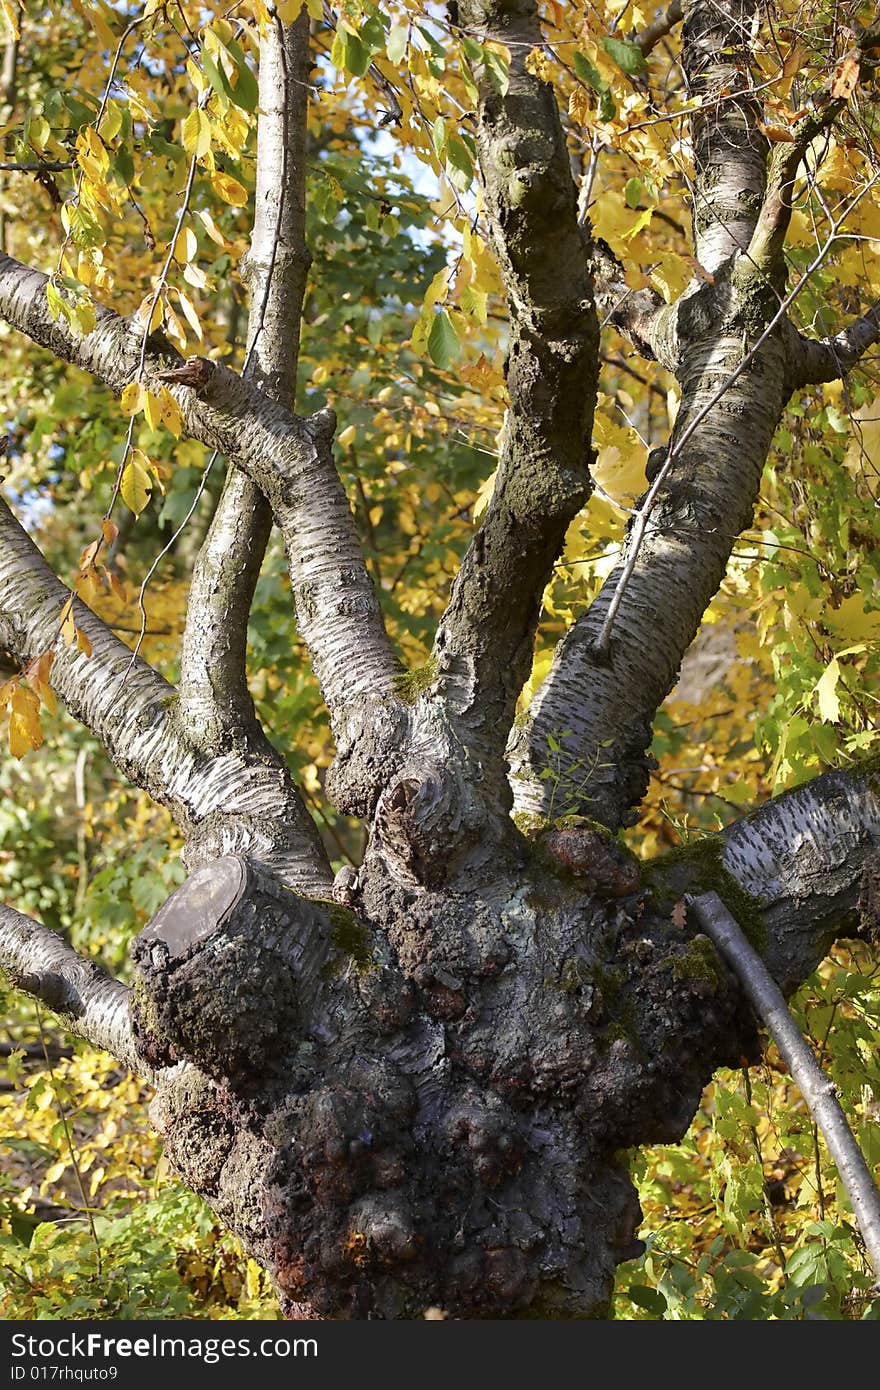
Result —
[[[131,990],[85,960],[49,927],[0,903],[0,967],[18,990],[58,1015],[64,1027],[145,1073],[129,1016]]]

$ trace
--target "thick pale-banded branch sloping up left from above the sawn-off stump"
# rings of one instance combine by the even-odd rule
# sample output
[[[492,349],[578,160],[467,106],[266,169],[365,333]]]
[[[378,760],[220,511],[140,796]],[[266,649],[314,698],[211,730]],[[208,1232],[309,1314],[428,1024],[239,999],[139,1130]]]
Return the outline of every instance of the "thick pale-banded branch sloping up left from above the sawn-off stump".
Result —
[[[70,598],[0,500],[0,645],[22,667],[54,653],[53,689],[100,738],[115,766],[168,806],[188,841],[190,867],[238,849],[300,892],[325,895],[329,866],[278,753],[254,737],[246,746],[206,756],[179,727],[174,687],[81,599],[74,599],[72,614],[90,655],[64,642],[60,614]]]

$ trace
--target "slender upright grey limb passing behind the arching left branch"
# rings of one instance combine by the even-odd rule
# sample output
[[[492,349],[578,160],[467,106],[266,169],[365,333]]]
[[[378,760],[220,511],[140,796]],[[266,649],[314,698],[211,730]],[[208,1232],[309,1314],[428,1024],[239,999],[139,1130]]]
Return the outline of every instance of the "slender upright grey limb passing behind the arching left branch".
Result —
[[[245,375],[292,407],[309,254],[306,117],[309,15],[270,25],[260,42],[257,188],[250,250]],[[271,530],[260,489],[231,467],[196,560],[181,642],[181,719],[193,737],[247,733],[254,714],[246,681],[247,616]]]

